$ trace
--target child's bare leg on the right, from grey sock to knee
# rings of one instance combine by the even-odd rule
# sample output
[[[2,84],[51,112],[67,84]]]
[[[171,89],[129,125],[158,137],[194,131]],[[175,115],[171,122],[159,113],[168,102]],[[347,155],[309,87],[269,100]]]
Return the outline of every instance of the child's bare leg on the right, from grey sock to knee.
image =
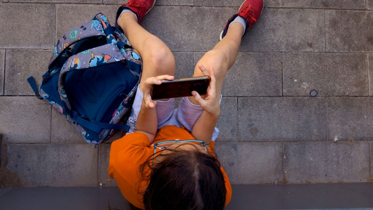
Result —
[[[214,68],[216,76],[216,93],[219,97],[222,92],[225,74],[236,60],[243,32],[244,27],[242,24],[232,23],[225,37],[219,41],[212,50],[207,52],[200,61],[197,62],[197,65],[194,68],[193,77],[204,76],[198,68],[199,64],[202,64],[207,70],[209,70],[210,67]],[[198,105],[198,102],[195,101],[193,96],[189,96],[189,100],[193,104]]]

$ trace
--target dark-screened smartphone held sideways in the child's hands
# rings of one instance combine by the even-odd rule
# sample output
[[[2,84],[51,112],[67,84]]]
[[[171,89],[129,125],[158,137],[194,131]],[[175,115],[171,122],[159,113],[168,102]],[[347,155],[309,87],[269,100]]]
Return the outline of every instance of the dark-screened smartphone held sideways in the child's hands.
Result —
[[[209,76],[162,80],[162,84],[153,85],[150,95],[153,100],[192,96],[193,90],[205,95],[209,84]]]

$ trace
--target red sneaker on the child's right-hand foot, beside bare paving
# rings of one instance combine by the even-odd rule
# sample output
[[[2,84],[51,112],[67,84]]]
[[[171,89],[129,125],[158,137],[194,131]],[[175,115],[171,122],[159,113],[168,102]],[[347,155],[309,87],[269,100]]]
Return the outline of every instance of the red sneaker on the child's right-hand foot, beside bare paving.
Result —
[[[220,34],[220,40],[222,40],[223,37],[225,37],[225,35],[228,32],[229,24],[237,16],[241,16],[242,18],[245,18],[246,20],[246,30],[244,33],[245,35],[247,31],[249,30],[249,28],[252,27],[256,23],[261,12],[263,11],[263,7],[264,7],[263,0],[245,0],[244,3],[241,4],[241,7],[239,7],[238,12],[235,15],[233,15],[231,18],[229,18],[227,24],[224,27],[224,30]]]

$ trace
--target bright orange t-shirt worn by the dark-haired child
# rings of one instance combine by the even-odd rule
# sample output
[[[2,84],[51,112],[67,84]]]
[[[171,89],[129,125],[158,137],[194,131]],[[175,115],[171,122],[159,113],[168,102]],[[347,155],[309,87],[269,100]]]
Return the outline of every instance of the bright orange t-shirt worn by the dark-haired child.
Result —
[[[194,139],[185,127],[164,126],[157,133],[153,143],[166,140]],[[153,144],[152,143],[152,144]],[[215,142],[211,141],[209,146],[214,150]],[[156,152],[161,149],[156,149]],[[138,190],[145,189],[146,182],[141,181],[140,165],[153,155],[154,146],[150,146],[150,140],[144,133],[130,133],[121,139],[115,140],[110,148],[109,176],[116,179],[118,187],[129,203],[144,209],[142,195]],[[227,190],[225,206],[231,201],[232,188],[223,167],[222,170],[225,187]]]

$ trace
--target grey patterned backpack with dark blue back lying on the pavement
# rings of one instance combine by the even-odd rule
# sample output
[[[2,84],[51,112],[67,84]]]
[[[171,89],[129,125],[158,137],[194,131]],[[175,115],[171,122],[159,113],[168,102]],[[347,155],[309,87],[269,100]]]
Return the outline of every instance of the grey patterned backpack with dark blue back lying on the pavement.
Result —
[[[46,99],[81,132],[98,145],[126,121],[140,83],[142,60],[104,13],[78,25],[54,46],[48,71],[38,89],[27,80],[39,99]]]

